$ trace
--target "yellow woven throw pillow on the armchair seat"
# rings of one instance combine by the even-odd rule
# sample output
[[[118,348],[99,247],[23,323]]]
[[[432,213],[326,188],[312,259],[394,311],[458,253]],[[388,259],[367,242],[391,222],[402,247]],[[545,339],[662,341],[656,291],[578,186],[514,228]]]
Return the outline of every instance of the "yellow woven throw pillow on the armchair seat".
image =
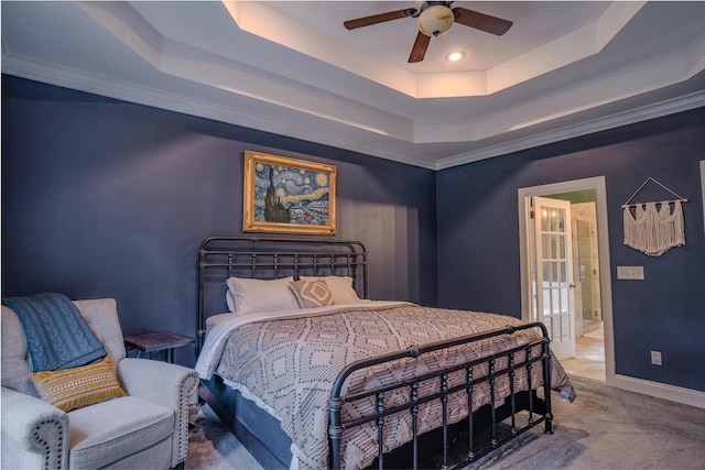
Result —
[[[33,372],[32,382],[43,401],[65,412],[127,395],[108,356],[79,368]]]

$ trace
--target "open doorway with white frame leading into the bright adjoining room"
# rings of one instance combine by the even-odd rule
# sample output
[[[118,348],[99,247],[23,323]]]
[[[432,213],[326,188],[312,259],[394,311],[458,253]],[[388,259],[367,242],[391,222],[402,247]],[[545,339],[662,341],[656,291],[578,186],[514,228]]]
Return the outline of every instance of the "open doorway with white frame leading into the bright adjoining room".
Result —
[[[561,362],[570,374],[609,382],[615,369],[604,177],[521,188],[518,203],[523,319],[543,321],[546,326],[553,324],[549,330],[550,336],[551,331],[555,336],[556,314],[570,311],[570,316],[561,315],[563,337],[552,338],[552,345],[565,342],[566,339],[573,341],[571,348],[561,345],[562,351],[574,351],[560,358]],[[570,207],[562,211],[567,215],[564,232],[570,240],[565,241],[566,253],[556,256],[557,261],[546,262],[546,249],[541,245],[539,237],[550,239],[554,234],[542,234],[536,225],[543,223],[546,207],[566,207],[566,204]],[[558,271],[565,266],[565,273],[557,277],[561,282],[565,281],[567,288],[561,289],[562,284],[556,284],[555,291],[570,293],[565,296],[570,299],[568,308],[560,302],[562,307],[556,310],[558,302],[551,298],[562,299],[563,295],[545,294],[546,283],[553,280],[546,276],[545,270],[542,272],[542,265],[553,264],[558,265]],[[549,298],[551,305],[542,303],[541,297]],[[565,318],[570,320],[565,321]]]

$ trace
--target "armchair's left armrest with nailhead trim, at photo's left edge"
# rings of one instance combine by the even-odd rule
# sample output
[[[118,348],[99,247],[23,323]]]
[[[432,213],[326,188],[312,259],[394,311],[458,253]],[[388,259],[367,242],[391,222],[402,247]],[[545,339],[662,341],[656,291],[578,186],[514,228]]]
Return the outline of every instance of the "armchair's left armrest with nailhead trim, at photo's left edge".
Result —
[[[68,415],[31,395],[2,387],[2,467],[65,469]]]

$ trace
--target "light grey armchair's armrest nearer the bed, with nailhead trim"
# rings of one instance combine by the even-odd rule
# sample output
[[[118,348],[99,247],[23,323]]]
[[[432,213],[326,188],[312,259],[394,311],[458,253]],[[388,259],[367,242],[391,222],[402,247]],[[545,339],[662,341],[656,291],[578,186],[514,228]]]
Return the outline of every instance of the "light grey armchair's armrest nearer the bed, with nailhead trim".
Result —
[[[121,360],[117,373],[128,395],[174,411],[172,468],[183,462],[188,449],[188,405],[198,386],[198,373],[183,365],[137,358]]]

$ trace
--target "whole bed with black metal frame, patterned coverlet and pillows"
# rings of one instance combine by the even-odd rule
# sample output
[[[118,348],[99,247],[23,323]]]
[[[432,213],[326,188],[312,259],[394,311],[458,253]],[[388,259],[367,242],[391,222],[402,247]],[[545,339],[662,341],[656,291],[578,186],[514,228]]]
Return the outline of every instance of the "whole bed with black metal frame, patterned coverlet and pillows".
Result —
[[[264,468],[459,468],[553,433],[575,392],[542,324],[369,300],[367,267],[358,241],[202,243],[199,395]]]

